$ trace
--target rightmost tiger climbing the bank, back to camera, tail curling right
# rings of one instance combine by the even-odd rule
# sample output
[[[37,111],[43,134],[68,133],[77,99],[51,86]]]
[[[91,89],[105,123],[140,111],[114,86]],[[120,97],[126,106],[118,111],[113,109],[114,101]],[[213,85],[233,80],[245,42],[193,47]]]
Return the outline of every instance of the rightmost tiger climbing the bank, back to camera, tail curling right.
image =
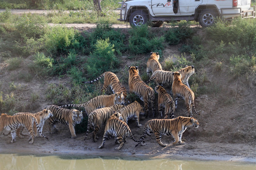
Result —
[[[175,108],[177,109],[178,97],[184,99],[186,104],[187,112],[190,113],[189,116],[192,117],[192,107],[195,110],[194,98],[195,95],[193,91],[181,81],[180,72],[173,72],[173,86],[172,86],[173,96],[175,100]],[[195,110],[196,114],[200,114]]]

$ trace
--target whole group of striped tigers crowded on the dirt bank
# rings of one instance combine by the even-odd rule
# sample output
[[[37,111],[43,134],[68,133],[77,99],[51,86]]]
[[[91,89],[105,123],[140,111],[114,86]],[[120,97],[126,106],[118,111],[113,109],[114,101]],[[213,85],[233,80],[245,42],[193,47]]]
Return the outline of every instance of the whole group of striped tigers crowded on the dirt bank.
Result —
[[[194,74],[195,69],[193,66],[186,66],[175,72],[165,71],[158,59],[159,53],[151,52],[146,62],[146,73],[148,76],[152,75],[146,82],[141,79],[137,66],[128,66],[129,93],[135,93],[144,103],[143,106],[138,101],[127,101],[128,92],[125,86],[119,82],[118,76],[107,71],[92,81],[82,83],[94,83],[103,77],[104,85],[101,91],[110,87],[113,94],[99,95],[82,104],[48,105],[44,110],[37,113],[23,112],[13,116],[2,113],[0,114],[0,135],[5,130],[4,135],[11,134],[12,140],[10,142],[13,143],[16,141],[16,135],[19,138],[26,136],[22,133],[25,128],[30,135],[29,143],[32,144],[37,134],[40,137],[46,137],[42,134],[42,130],[47,120],[51,134],[58,132],[56,123],[62,123],[68,125],[71,138],[75,139],[75,125],[81,123],[84,116],[88,116],[84,140],[87,139],[91,129],[92,140],[97,142],[100,137],[99,131],[105,125],[102,144],[98,148],[102,148],[111,136],[114,136],[115,142],[119,144],[119,147],[115,148],[116,150],[124,146],[127,136],[130,136],[137,143],[135,146],[143,146],[146,135],[151,133],[155,134],[156,142],[161,146],[167,145],[162,143],[162,135],[172,135],[174,137],[173,144],[184,144],[182,134],[186,128],[199,126],[199,122],[192,115],[192,108],[197,114],[199,113],[194,106],[194,93],[188,84],[188,79]],[[147,85],[151,81],[155,81],[154,89]],[[171,87],[171,92],[167,93],[163,85]],[[158,95],[158,111],[155,108],[155,95]],[[174,119],[178,98],[184,100],[186,114],[189,114],[189,117],[178,116]],[[79,110],[81,108],[85,110],[84,114]],[[153,119],[146,122],[143,134],[136,140],[128,126],[128,120],[133,119],[136,121],[137,127],[142,127],[139,123],[140,116],[153,117]],[[160,119],[155,119],[156,116]]]

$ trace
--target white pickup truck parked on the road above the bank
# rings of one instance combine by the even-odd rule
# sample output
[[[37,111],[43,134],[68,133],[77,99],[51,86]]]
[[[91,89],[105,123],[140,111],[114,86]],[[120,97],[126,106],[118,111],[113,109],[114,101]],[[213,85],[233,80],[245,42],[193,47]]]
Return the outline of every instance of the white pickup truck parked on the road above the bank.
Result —
[[[159,27],[163,22],[195,20],[203,27],[212,26],[216,17],[255,17],[251,0],[125,0],[121,4],[120,21],[141,26],[148,21]]]

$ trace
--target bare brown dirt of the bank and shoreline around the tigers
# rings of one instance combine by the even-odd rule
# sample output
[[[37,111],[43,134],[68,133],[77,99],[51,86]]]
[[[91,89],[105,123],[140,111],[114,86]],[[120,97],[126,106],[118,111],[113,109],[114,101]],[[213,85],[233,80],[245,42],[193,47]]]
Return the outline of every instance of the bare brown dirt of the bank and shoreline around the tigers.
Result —
[[[173,46],[163,52],[164,57],[179,55],[179,46]],[[148,56],[142,56],[148,58]],[[189,57],[189,56],[187,56]],[[29,62],[29,57],[25,63]],[[124,67],[128,67],[133,61],[126,60]],[[146,64],[146,63],[145,63]],[[26,64],[24,64],[26,65]],[[48,83],[64,83],[58,77],[40,82],[33,79],[26,83],[17,80],[15,75],[19,72],[26,72],[25,68],[18,68],[13,71],[7,69],[8,64],[0,63],[0,91],[9,93],[10,82],[22,85],[22,99],[28,101],[31,93],[37,92],[40,98],[30,112],[39,111],[48,103],[44,96]],[[124,70],[127,71],[127,70]],[[172,157],[185,159],[205,160],[227,160],[227,161],[251,161],[256,162],[256,76],[241,76],[238,79],[231,79],[227,70],[216,74],[212,65],[204,66],[197,70],[197,74],[205,72],[208,78],[208,85],[218,84],[219,93],[199,95],[195,99],[195,107],[201,115],[194,114],[200,123],[199,128],[188,128],[183,133],[185,144],[172,145],[174,138],[163,136],[163,143],[168,144],[162,147],[155,142],[155,136],[148,136],[145,139],[145,146],[137,146],[131,139],[127,138],[124,147],[116,151],[117,144],[114,139],[106,141],[104,148],[98,149],[101,145],[103,129],[97,142],[93,142],[89,134],[87,140],[83,140],[85,133],[77,134],[76,139],[71,139],[68,126],[58,124],[60,132],[50,134],[47,130],[47,123],[43,133],[49,138],[37,137],[34,144],[28,144],[28,137],[19,139],[15,143],[9,143],[11,136],[0,136],[0,153],[46,153],[46,154],[92,154],[92,155],[114,155],[114,156],[148,156],[151,158]],[[128,75],[128,72],[127,72]],[[128,86],[125,84],[125,86]],[[185,105],[179,101],[174,116],[185,115]],[[144,125],[149,119],[140,120]],[[128,122],[129,127],[136,139],[143,133],[143,126],[137,127],[135,121]]]

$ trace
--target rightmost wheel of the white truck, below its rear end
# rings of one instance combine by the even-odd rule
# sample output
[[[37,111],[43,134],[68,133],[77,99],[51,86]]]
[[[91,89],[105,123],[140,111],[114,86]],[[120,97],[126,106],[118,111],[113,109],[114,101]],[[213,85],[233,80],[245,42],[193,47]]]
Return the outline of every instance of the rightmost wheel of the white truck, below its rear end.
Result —
[[[213,26],[216,20],[217,12],[212,9],[204,9],[199,15],[199,24],[202,27]]]

